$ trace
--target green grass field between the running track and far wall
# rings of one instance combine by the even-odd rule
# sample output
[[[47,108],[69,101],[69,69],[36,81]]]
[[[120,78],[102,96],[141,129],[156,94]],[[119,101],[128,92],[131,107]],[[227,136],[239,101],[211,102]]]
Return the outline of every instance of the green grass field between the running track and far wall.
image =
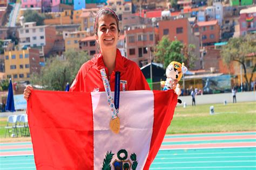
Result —
[[[210,106],[214,115],[210,115]],[[7,118],[0,118],[0,139],[3,140]],[[233,132],[256,130],[256,102],[204,104],[183,108],[178,105],[167,134],[200,132]],[[6,137],[8,138],[8,137]],[[27,137],[30,140],[30,137]],[[25,138],[26,139],[26,138]]]

